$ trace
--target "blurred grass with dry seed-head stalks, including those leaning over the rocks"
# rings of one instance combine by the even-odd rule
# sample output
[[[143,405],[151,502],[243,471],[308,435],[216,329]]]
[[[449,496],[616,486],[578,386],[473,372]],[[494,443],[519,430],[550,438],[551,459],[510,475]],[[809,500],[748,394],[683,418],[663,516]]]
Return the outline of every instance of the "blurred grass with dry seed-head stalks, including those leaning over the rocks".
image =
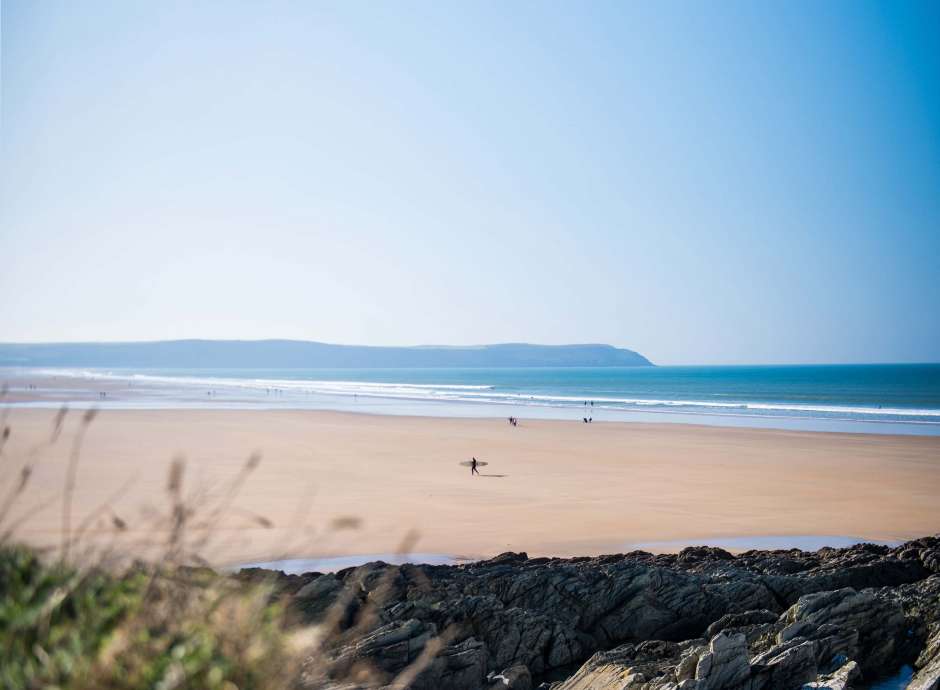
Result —
[[[53,440],[61,433],[63,417],[64,412],[53,425]],[[0,581],[15,583],[16,578],[7,573],[22,570],[48,583],[0,587],[0,687],[299,690],[345,682],[355,682],[357,687],[392,682],[392,687],[404,690],[452,639],[450,630],[432,638],[412,664],[389,678],[364,659],[353,660],[351,665],[339,663],[337,652],[343,645],[355,644],[357,635],[371,632],[389,600],[397,568],[387,568],[377,586],[370,586],[357,620],[345,619],[352,598],[362,592],[358,587],[363,583],[358,580],[346,583],[323,623],[310,626],[301,624],[299,616],[287,615],[291,600],[283,591],[278,593],[273,580],[259,585],[207,567],[192,567],[208,566],[198,547],[226,515],[247,518],[251,527],[274,527],[264,515],[233,505],[260,463],[257,453],[248,457],[218,500],[203,502],[185,495],[185,461],[177,457],[166,476],[167,510],[150,520],[134,521],[131,529],[113,507],[126,491],[125,485],[73,529],[72,494],[82,443],[94,418],[93,411],[82,416],[70,449],[59,559],[42,563],[34,551],[22,551],[33,564],[24,570],[9,555],[10,544],[0,543]],[[31,466],[24,466],[18,475],[13,484],[15,497],[29,488],[31,472]],[[86,544],[85,535],[93,527],[100,527],[99,535],[110,536],[110,543],[98,539]],[[201,530],[196,540],[194,527]],[[361,527],[359,518],[339,516],[329,523],[326,533]],[[143,535],[137,544],[135,534]],[[410,532],[396,551],[407,555],[416,541],[417,534]],[[162,557],[128,568],[126,555],[139,553],[142,544],[157,544]],[[80,546],[87,549],[88,558],[79,553]],[[9,612],[30,610],[41,615],[25,628],[25,619],[18,619],[21,627],[3,619]]]

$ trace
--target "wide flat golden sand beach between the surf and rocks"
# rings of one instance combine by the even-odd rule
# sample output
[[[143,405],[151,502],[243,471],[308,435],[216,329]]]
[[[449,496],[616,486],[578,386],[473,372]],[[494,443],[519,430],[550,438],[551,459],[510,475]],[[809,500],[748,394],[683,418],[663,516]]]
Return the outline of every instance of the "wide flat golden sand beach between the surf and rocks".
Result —
[[[4,522],[19,520],[21,539],[56,544],[83,413],[69,413],[51,445],[54,412],[7,413],[3,495],[23,462],[32,474]],[[260,463],[229,502],[254,452]],[[489,463],[479,477],[459,464],[471,456]],[[940,532],[936,437],[222,410],[99,412],[77,456],[72,531],[159,550],[174,457],[185,458],[190,522],[224,508],[200,549],[216,564],[389,553],[412,530],[415,551],[468,557]]]

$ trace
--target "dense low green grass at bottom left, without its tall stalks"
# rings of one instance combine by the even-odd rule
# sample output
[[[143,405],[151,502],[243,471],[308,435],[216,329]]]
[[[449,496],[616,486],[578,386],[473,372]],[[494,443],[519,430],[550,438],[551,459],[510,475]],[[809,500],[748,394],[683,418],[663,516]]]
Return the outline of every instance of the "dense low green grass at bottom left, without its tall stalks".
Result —
[[[207,570],[122,574],[0,546],[0,686],[297,686],[303,634],[263,586]]]

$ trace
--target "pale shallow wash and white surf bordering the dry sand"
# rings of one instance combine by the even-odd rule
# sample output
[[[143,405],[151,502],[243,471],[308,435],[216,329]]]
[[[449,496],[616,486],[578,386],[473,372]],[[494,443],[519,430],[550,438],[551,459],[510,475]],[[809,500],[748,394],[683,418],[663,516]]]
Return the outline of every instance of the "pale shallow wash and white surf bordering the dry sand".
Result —
[[[407,389],[427,388],[425,384],[388,384],[378,382],[355,383],[352,381],[313,381],[265,380],[268,384],[288,384],[292,389],[271,388],[263,394],[264,388],[258,388],[259,380],[231,379],[193,379],[184,375],[151,376],[113,375],[105,372],[80,372],[76,370],[22,369],[15,367],[0,368],[0,374],[6,374],[5,382],[12,384],[0,401],[0,409],[58,409],[68,404],[74,409],[108,410],[149,410],[149,411],[190,411],[190,410],[241,410],[241,411],[332,411],[353,414],[376,414],[395,417],[426,417],[443,419],[505,419],[515,416],[529,420],[580,421],[588,408],[581,408],[570,401],[532,402],[533,396],[524,394],[499,400],[477,398],[455,398],[444,395],[440,398],[413,396],[414,391],[386,394],[376,392],[376,387],[393,386]],[[89,375],[90,374],[90,375]],[[58,383],[63,379],[62,383]],[[194,381],[198,381],[198,386]],[[37,383],[38,382],[38,383]],[[53,385],[49,385],[50,382]],[[64,386],[62,385],[64,383]],[[371,392],[354,395],[351,390],[344,393],[311,391],[307,386],[366,386]],[[214,389],[218,386],[217,389]],[[452,388],[441,384],[442,389]],[[492,386],[458,386],[464,388],[492,388]],[[477,395],[477,394],[474,394]],[[539,396],[535,396],[539,397]],[[580,397],[578,398],[580,400]],[[799,406],[755,401],[740,403],[698,403],[687,402],[692,408],[682,407],[677,401],[659,401],[661,406],[652,405],[653,400],[637,401],[639,406],[617,406],[598,400],[598,406],[591,408],[594,415],[599,415],[597,423],[665,424],[693,425],[719,428],[777,429],[805,431],[814,433],[848,433],[874,435],[910,435],[940,436],[940,421],[934,421],[934,411],[922,411],[929,416],[917,418],[904,417],[917,410],[881,410],[875,415],[875,409],[861,417],[832,416],[834,413],[797,413]],[[705,405],[695,409],[695,406]],[[709,407],[712,405],[714,407]],[[767,407],[769,405],[769,407]],[[772,413],[771,410],[779,411]],[[739,408],[751,409],[750,412]],[[765,409],[766,408],[766,409]],[[702,410],[705,411],[702,411]],[[829,408],[819,408],[820,410]],[[843,409],[833,407],[832,410]],[[845,407],[846,414],[856,409]],[[863,408],[857,408],[862,410]],[[763,410],[755,412],[754,410]],[[786,412],[789,410],[789,412]],[[903,413],[900,418],[891,418],[897,411]],[[593,416],[593,415],[592,415]],[[940,419],[940,417],[938,417]]]

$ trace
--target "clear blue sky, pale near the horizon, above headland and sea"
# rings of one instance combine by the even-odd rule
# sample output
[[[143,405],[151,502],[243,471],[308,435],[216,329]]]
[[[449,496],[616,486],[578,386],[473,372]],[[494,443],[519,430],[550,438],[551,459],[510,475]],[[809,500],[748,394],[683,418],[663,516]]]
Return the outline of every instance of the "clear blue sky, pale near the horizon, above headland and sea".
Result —
[[[2,60],[0,341],[940,360],[937,2],[6,0]]]

